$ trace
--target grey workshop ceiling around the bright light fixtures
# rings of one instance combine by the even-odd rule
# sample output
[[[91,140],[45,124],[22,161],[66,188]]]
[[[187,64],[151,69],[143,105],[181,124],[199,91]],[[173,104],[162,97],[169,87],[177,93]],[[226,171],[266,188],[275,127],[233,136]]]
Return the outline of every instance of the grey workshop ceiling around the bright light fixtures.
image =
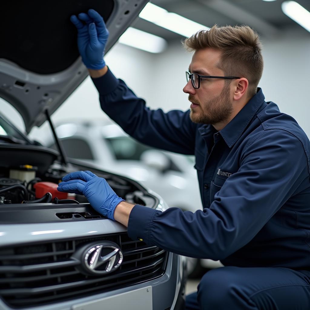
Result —
[[[275,38],[281,32],[294,30],[301,35],[310,33],[287,17],[281,10],[284,0],[153,0],[153,4],[177,13],[207,27],[214,24],[241,25],[254,28],[262,37]],[[296,0],[310,11],[309,0]],[[182,39],[177,33],[137,18],[133,26],[137,29],[165,38],[168,42]],[[310,37],[309,37],[310,38]]]

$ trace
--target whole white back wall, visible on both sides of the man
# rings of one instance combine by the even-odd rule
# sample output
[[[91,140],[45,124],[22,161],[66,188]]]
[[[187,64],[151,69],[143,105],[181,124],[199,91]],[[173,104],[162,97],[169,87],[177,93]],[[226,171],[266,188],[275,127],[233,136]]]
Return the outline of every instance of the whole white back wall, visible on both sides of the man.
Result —
[[[274,101],[282,112],[292,115],[310,137],[308,114],[308,87],[310,73],[310,34],[296,37],[294,33],[283,34],[275,40],[263,39],[264,72],[259,84],[267,101]],[[117,76],[125,80],[136,95],[146,99],[151,108],[186,110],[189,108],[185,85],[185,71],[191,55],[179,42],[170,44],[162,54],[151,54],[117,44],[105,57],[106,63]],[[167,81],[169,81],[167,83]],[[3,100],[0,110],[20,128],[21,119],[13,108]],[[104,119],[97,91],[87,78],[66,102],[54,113],[52,119],[69,118]],[[32,136],[38,130],[34,129]]]

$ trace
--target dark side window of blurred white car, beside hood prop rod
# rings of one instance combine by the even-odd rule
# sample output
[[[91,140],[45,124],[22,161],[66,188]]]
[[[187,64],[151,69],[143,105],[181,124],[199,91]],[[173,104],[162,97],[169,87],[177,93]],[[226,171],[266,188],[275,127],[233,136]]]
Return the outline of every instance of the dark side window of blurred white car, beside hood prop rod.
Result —
[[[64,147],[64,151],[68,157],[78,159],[94,159],[94,155],[91,152],[91,148],[88,143],[79,138],[61,139],[61,144]],[[54,150],[58,150],[56,144],[50,146]]]

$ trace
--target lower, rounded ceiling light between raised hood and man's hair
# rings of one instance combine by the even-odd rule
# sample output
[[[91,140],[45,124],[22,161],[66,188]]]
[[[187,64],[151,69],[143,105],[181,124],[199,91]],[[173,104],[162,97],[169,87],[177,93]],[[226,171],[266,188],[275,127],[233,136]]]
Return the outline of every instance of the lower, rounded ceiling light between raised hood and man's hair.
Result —
[[[150,53],[161,53],[167,47],[167,41],[151,33],[129,27],[118,42]]]

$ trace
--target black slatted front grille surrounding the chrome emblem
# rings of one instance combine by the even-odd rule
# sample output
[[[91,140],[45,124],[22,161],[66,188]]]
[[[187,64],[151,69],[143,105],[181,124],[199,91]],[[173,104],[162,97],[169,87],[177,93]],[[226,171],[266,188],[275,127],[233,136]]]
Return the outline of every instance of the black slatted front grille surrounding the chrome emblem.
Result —
[[[119,245],[124,245],[125,248],[128,246],[136,247],[140,244],[143,246],[139,246],[140,250],[145,249],[145,244],[142,241],[136,240],[131,243],[129,243],[131,240],[126,232],[122,233],[115,233],[115,234],[109,234],[109,235],[102,235],[102,236],[94,236],[94,237],[87,237],[87,238],[74,238],[74,239],[63,239],[63,240],[51,240],[51,241],[45,241],[45,242],[36,242],[36,243],[30,243],[30,244],[20,244],[20,245],[14,245],[12,248],[5,247],[0,248],[0,253],[2,262],[9,263],[9,260],[3,259],[5,258],[5,253],[10,253],[8,256],[11,256],[11,253],[23,253],[24,251],[32,252],[33,257],[37,257],[36,253],[41,253],[44,248],[40,247],[44,246],[47,248],[50,248],[51,251],[49,254],[55,255],[55,250],[58,248],[60,251],[57,252],[56,256],[63,251],[61,248],[65,246],[68,249],[71,249],[73,252],[75,252],[75,249],[78,249],[79,247],[86,244],[86,242],[94,242],[94,241],[103,241],[103,240],[113,240],[117,242]],[[60,244],[58,244],[60,242]],[[52,245],[49,245],[52,243]],[[55,243],[55,244],[54,244]],[[33,246],[31,250],[31,246]],[[15,248],[15,250],[14,250]],[[121,246],[122,248],[122,246]],[[123,251],[126,249],[122,249]],[[0,284],[2,284],[2,289],[0,290],[1,297],[5,303],[7,303],[10,307],[14,308],[25,308],[30,306],[38,306],[43,304],[51,304],[54,302],[59,302],[68,300],[73,298],[74,296],[89,296],[91,294],[96,294],[99,292],[106,292],[114,289],[120,289],[123,287],[128,287],[130,285],[136,285],[139,283],[144,283],[146,281],[151,281],[154,279],[157,279],[159,277],[162,277],[165,273],[166,266],[167,266],[167,259],[169,253],[161,250],[161,249],[154,249],[154,247],[149,247],[149,252],[155,253],[152,255],[148,255],[144,260],[143,253],[148,254],[147,252],[141,252],[140,258],[141,262],[137,261],[136,263],[133,263],[133,266],[121,266],[116,272],[111,273],[107,276],[94,276],[94,277],[85,277],[81,272],[76,272],[74,268],[62,268],[64,272],[61,272],[61,269],[56,269],[54,272],[49,272],[47,270],[47,275],[43,275],[43,272],[34,273],[33,275],[29,274],[29,277],[27,280],[25,277],[27,277],[26,274],[23,276],[20,275],[20,271],[17,272],[16,278],[13,274],[10,274],[10,272],[6,275],[7,270],[3,271],[3,278],[4,281],[0,280]],[[68,250],[69,251],[69,250]],[[70,251],[69,251],[70,252]],[[70,253],[67,253],[70,256]],[[160,256],[159,256],[160,255]],[[62,255],[60,255],[57,259],[61,258]],[[68,256],[68,255],[67,255]],[[67,259],[69,259],[69,256]],[[126,261],[126,257],[130,259],[131,255],[124,255],[124,262]],[[154,257],[155,256],[155,257]],[[159,256],[159,257],[157,257]],[[20,256],[18,257],[16,262],[18,263],[18,260],[20,259]],[[40,258],[38,258],[40,261]],[[71,256],[72,259],[72,256]],[[128,261],[127,261],[128,262]],[[43,265],[43,264],[42,264]],[[4,266],[3,266],[4,267]],[[16,267],[16,266],[15,266]],[[21,266],[17,266],[21,267]],[[6,278],[8,277],[8,278]],[[30,280],[33,282],[31,282]],[[16,279],[20,280],[20,282],[16,281]],[[52,280],[54,279],[54,280]],[[58,279],[55,282],[55,279]],[[13,280],[13,281],[10,281]],[[49,282],[50,281],[50,282]],[[40,286],[40,282],[41,285]],[[53,284],[55,282],[55,284]],[[12,283],[12,286],[10,286],[10,283]],[[6,285],[7,288],[4,288],[3,285]],[[20,286],[20,287],[18,287]]]

